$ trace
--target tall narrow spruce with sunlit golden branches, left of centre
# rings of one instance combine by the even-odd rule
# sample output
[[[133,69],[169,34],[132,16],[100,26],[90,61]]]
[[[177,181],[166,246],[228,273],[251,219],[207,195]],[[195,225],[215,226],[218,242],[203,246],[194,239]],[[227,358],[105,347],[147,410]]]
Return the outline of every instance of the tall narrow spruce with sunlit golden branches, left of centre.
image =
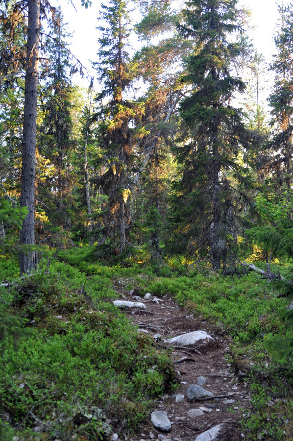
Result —
[[[102,32],[98,53],[101,61],[95,66],[103,84],[97,100],[100,102],[99,144],[104,156],[96,184],[108,196],[108,203],[100,219],[100,243],[112,238],[116,252],[122,252],[131,222],[128,181],[133,150],[131,125],[143,110],[142,106],[125,99],[134,76],[127,49],[131,31],[129,2],[112,0],[102,5],[102,18],[106,25],[98,28]]]

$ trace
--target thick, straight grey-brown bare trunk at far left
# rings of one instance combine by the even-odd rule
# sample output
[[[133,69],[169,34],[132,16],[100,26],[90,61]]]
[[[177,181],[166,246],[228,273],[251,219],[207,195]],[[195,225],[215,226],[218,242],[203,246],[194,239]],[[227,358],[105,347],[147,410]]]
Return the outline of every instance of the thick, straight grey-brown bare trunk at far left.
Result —
[[[26,72],[24,85],[24,131],[22,143],[21,207],[28,213],[20,232],[20,245],[35,244],[35,181],[36,181],[36,132],[37,96],[39,76],[40,0],[27,0],[28,26],[26,48]],[[20,253],[20,273],[35,269],[35,251]]]

